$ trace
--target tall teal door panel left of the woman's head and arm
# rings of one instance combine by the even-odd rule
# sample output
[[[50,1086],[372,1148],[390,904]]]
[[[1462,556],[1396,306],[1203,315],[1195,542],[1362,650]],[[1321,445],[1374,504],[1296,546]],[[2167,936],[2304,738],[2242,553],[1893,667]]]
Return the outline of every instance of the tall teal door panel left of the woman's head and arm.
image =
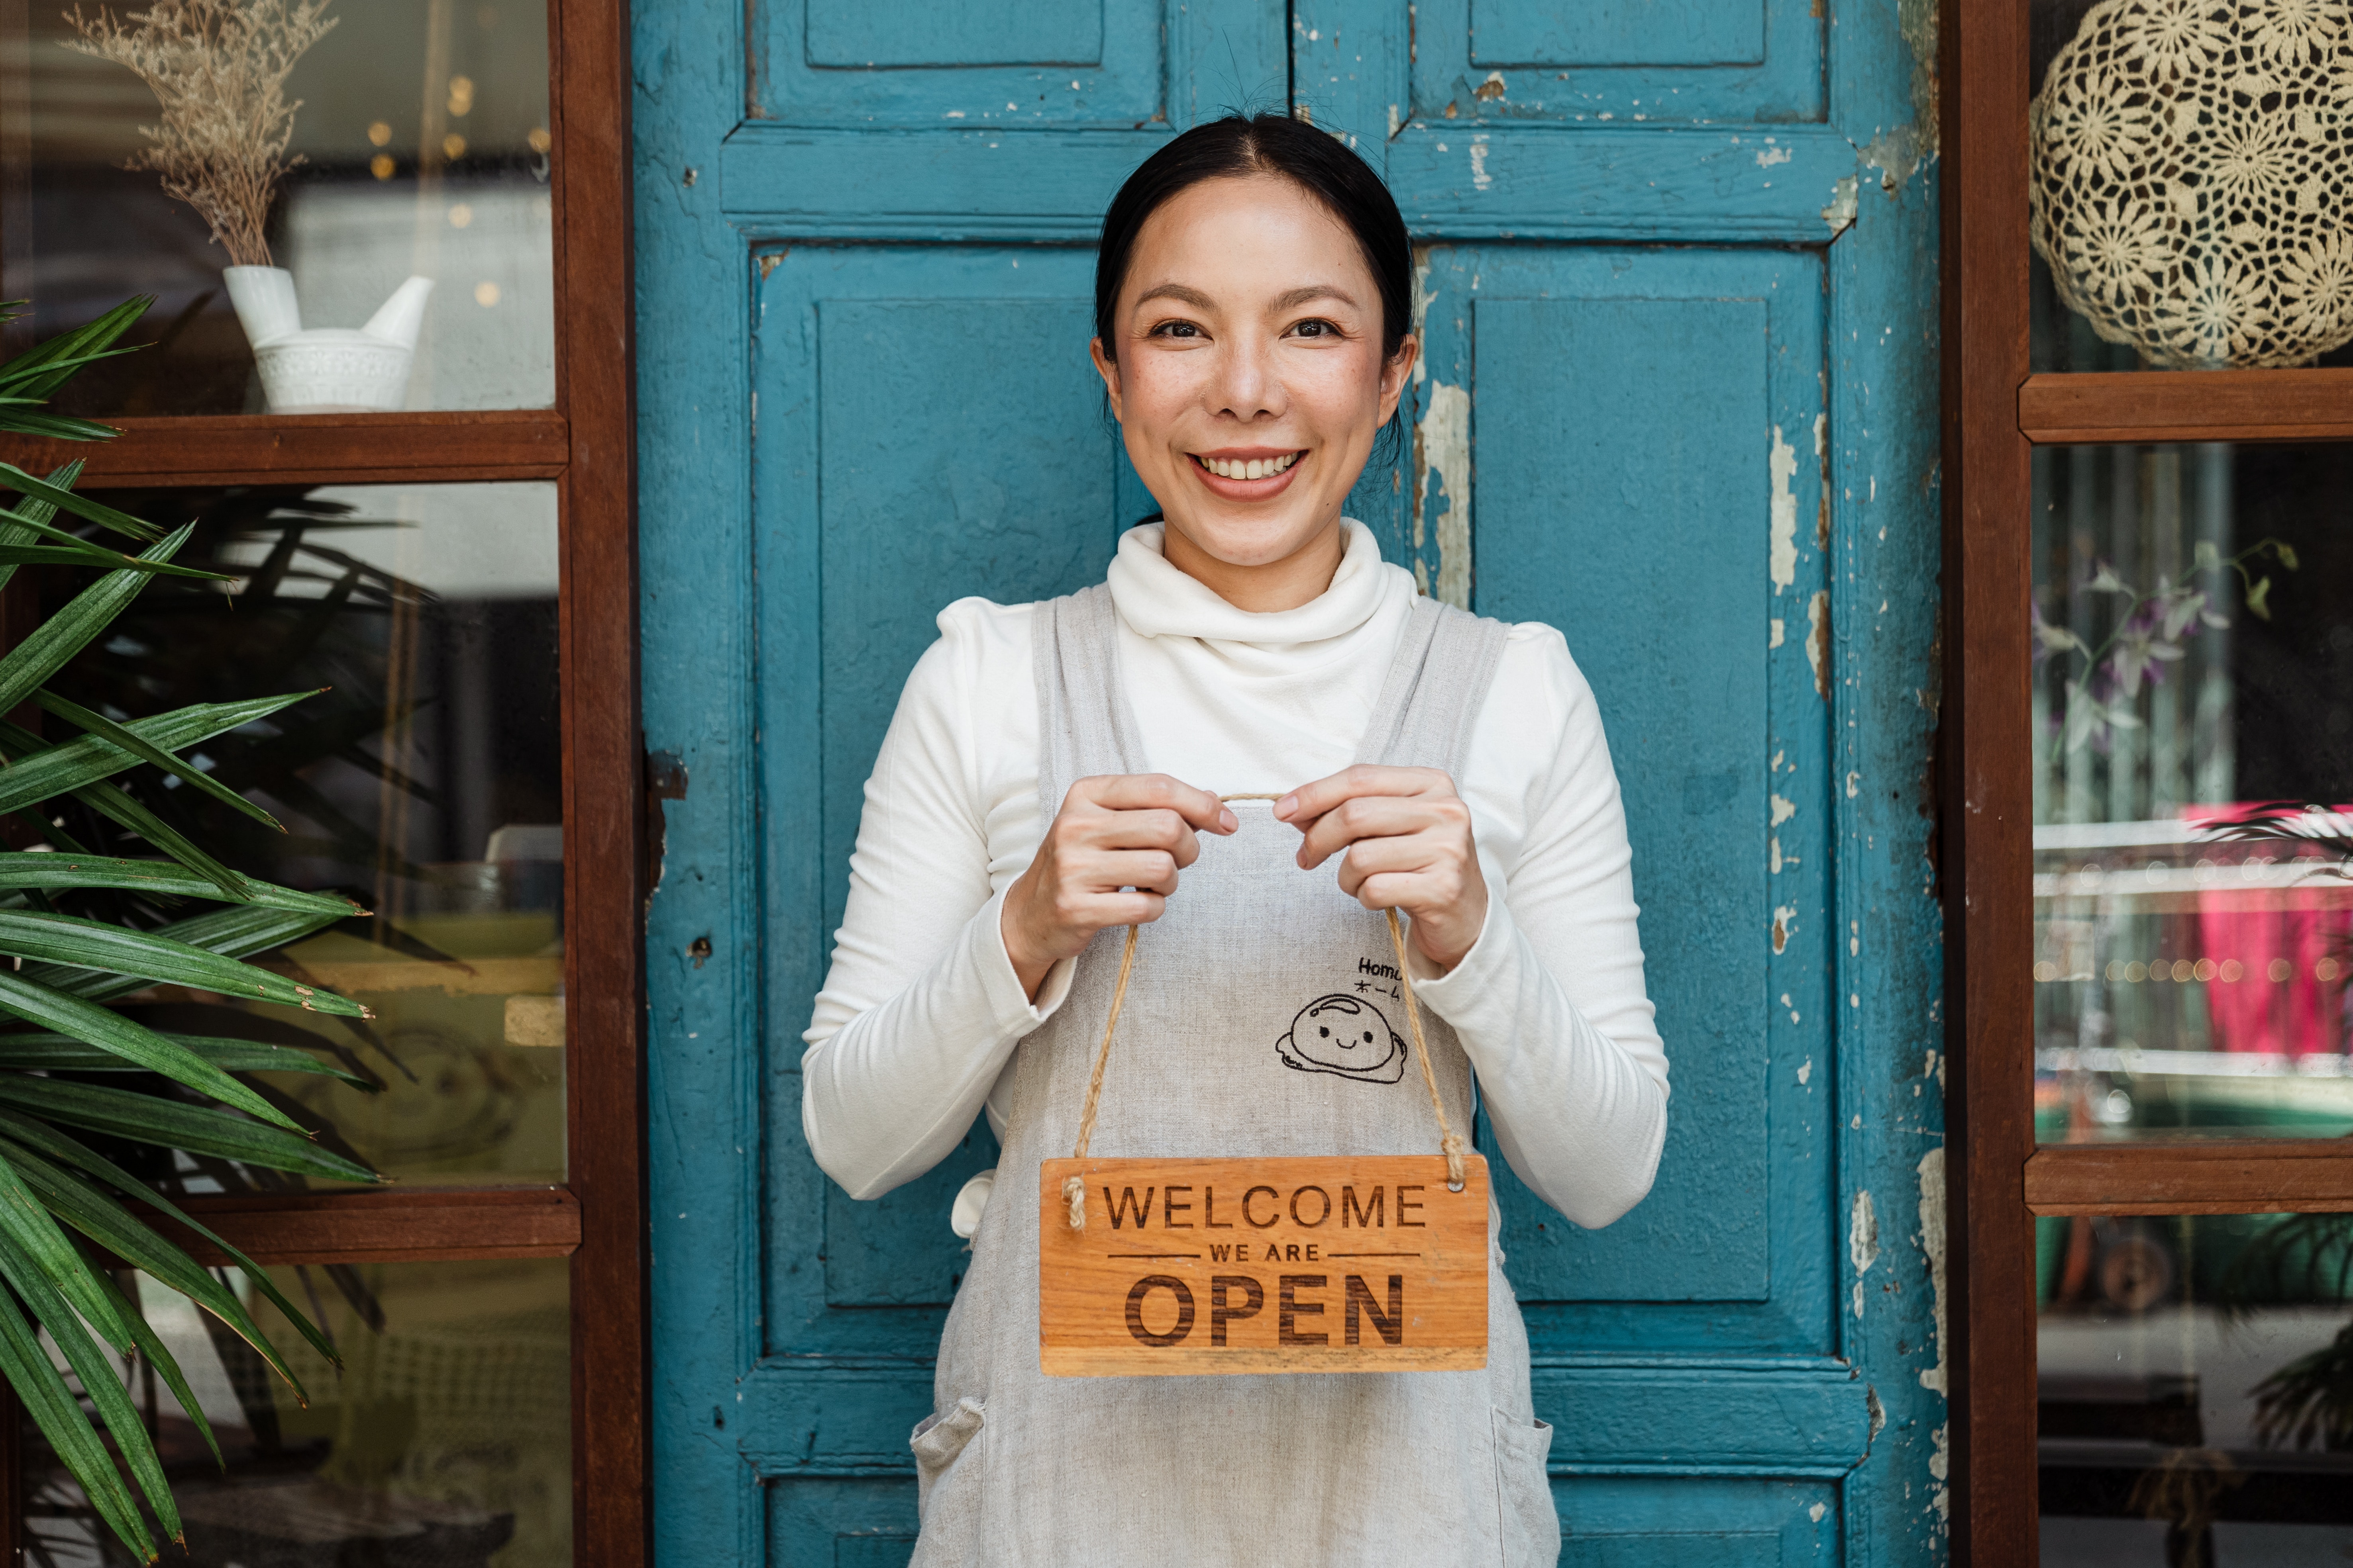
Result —
[[[1087,364],[1092,256],[805,247],[762,259],[753,287],[758,616],[776,670],[760,729],[809,741],[762,750],[767,799],[800,823],[814,804],[821,846],[767,844],[769,929],[793,936],[769,959],[781,1025],[805,1023],[824,983],[866,773],[939,609],[1099,583],[1118,520],[1151,498]],[[995,1138],[976,1121],[920,1180],[854,1201],[809,1161],[791,1060],[767,1079],[769,1354],[927,1356],[965,1267],[948,1204],[995,1164]]]

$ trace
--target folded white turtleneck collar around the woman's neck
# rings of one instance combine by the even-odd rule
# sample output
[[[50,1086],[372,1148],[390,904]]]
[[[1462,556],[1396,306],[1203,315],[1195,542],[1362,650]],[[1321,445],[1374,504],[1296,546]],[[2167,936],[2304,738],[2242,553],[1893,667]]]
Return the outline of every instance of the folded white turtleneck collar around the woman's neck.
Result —
[[[1398,595],[1400,567],[1381,562],[1372,529],[1353,517],[1341,520],[1344,550],[1332,585],[1297,609],[1247,611],[1221,599],[1207,583],[1186,576],[1162,552],[1162,527],[1146,522],[1120,536],[1111,562],[1111,602],[1139,637],[1198,637],[1252,649],[1294,649],[1346,637],[1379,614]],[[1412,597],[1412,578],[1405,578]]]

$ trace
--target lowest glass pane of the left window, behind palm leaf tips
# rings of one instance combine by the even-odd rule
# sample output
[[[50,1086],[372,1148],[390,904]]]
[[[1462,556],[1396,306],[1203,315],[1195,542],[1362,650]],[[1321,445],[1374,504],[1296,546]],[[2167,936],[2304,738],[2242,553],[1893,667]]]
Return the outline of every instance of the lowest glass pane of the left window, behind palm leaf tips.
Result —
[[[136,1279],[141,1312],[228,1460],[224,1474],[172,1392],[146,1368],[132,1371],[127,1387],[188,1528],[188,1554],[165,1552],[191,1568],[569,1563],[567,1274],[562,1258],[271,1269],[287,1300],[318,1314],[344,1356],[336,1373],[252,1281],[226,1269],[301,1378],[308,1408],[219,1319],[144,1274],[122,1274]],[[26,1561],[134,1561],[31,1422],[24,1455]]]

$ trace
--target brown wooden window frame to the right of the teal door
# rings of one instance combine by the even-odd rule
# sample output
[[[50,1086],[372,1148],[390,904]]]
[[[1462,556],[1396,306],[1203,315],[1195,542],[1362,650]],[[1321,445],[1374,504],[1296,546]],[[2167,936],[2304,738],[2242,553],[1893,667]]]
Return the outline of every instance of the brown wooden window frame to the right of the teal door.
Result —
[[[2031,371],[2028,2],[1946,0],[1939,35],[1951,1519],[1984,1568],[2038,1554],[2035,1218],[2353,1211],[2346,1140],[2035,1145],[2033,447],[2344,442],[2353,371]]]

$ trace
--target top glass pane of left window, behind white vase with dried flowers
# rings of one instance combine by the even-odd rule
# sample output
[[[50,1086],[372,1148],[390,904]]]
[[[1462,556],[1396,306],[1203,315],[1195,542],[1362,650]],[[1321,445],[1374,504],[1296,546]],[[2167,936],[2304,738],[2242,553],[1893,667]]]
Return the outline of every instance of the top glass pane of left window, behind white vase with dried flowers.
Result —
[[[155,94],[125,63],[78,52],[64,5],[9,7],[0,49],[0,282],[31,313],[0,331],[31,346],[132,294],[155,306],[136,355],[82,371],[75,414],[264,414],[329,407],[511,409],[555,397],[548,174],[548,7],[541,0],[367,0],[285,78],[285,158],[235,256],[155,169]],[[139,5],[113,5],[136,35]],[[294,7],[287,7],[294,9]],[[82,7],[92,16],[96,7]],[[205,94],[191,101],[205,103]],[[202,108],[195,127],[212,118]],[[172,129],[165,125],[162,129]],[[240,141],[238,146],[245,146]],[[240,228],[231,221],[231,228]],[[252,249],[252,242],[240,242]],[[292,317],[231,303],[224,268],[268,261],[292,277]],[[412,334],[369,327],[407,277],[433,292]],[[254,299],[268,280],[252,284]],[[398,315],[398,313],[395,313]],[[334,336],[315,336],[320,329]],[[261,350],[256,355],[256,343]],[[358,364],[355,355],[365,367]]]

